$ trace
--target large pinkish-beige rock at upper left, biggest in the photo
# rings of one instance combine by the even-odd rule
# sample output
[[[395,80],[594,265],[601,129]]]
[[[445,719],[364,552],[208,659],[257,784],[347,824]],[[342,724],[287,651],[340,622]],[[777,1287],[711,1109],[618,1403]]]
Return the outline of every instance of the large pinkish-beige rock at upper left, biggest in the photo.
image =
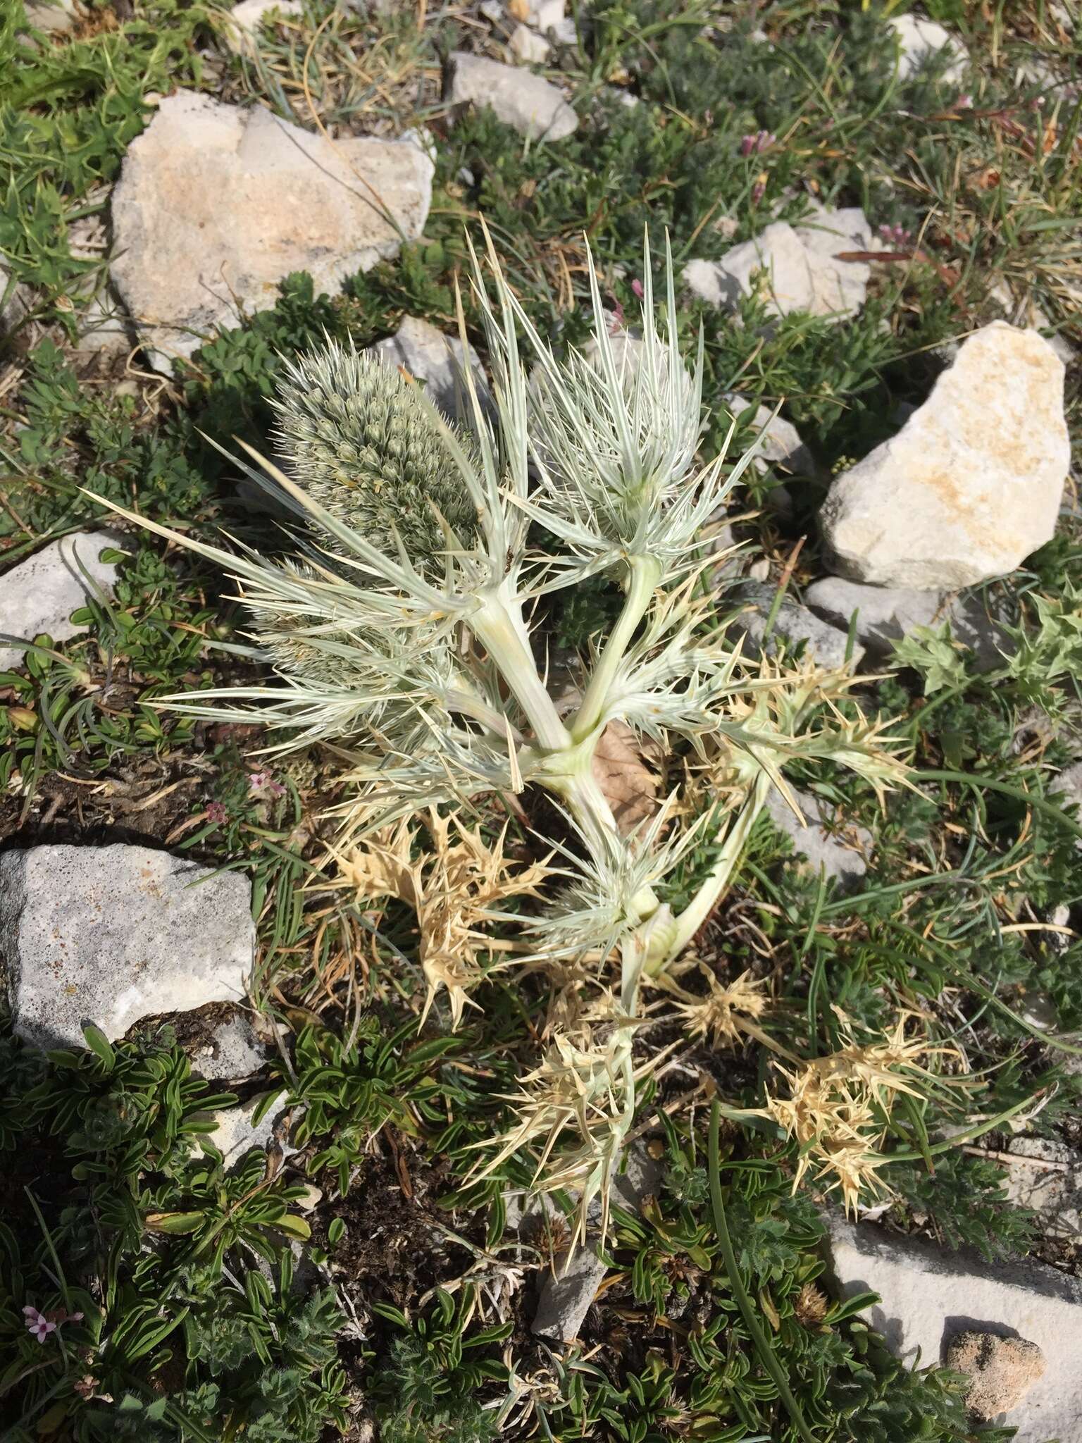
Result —
[[[333,144],[260,107],[176,91],[128,147],[113,192],[113,280],[154,365],[189,356],[290,271],[336,291],[417,240],[433,162],[417,140]]]

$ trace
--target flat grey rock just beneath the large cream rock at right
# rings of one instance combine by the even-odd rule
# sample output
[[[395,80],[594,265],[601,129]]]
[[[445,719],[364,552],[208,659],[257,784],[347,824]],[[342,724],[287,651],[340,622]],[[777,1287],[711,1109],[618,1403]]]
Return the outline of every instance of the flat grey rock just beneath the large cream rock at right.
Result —
[[[982,671],[1003,665],[1003,649],[1011,642],[988,616],[978,596],[949,596],[941,592],[915,592],[906,587],[864,586],[841,576],[824,576],[804,592],[811,609],[832,626],[848,631],[857,613],[856,635],[868,657],[889,657],[894,642],[915,626],[942,626],[949,622],[955,641],[969,646]]]

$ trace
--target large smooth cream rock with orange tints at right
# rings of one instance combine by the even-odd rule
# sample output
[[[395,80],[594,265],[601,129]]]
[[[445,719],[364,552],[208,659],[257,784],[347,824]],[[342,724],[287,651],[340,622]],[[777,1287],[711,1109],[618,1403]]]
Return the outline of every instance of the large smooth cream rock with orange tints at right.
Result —
[[[1050,540],[1069,460],[1063,362],[995,320],[897,436],[834,479],[819,512],[834,566],[918,590],[1013,571]]]

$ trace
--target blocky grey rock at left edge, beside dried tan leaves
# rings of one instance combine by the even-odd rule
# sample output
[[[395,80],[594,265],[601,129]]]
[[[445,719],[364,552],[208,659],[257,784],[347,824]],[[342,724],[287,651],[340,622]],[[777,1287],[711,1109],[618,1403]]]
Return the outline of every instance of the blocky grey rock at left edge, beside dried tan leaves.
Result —
[[[167,851],[30,847],[0,857],[0,955],[14,1030],[36,1046],[110,1040],[141,1017],[237,1001],[251,883]]]

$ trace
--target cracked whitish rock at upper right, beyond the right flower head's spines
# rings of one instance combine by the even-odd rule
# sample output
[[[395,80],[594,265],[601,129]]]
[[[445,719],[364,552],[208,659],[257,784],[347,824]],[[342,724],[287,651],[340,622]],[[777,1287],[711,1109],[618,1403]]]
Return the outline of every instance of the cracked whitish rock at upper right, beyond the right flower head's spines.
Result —
[[[838,257],[879,248],[863,211],[817,205],[802,225],[775,221],[720,261],[690,261],[684,281],[700,299],[736,310],[740,297],[760,284],[756,274],[766,271],[762,284],[770,315],[801,310],[844,320],[864,304],[871,268],[867,261]]]

